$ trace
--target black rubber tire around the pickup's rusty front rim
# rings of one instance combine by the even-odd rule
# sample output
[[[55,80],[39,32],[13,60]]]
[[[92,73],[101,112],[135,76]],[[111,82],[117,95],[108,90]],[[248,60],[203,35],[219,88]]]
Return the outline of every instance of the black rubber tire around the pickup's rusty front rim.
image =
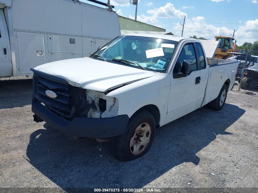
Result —
[[[150,127],[150,135],[146,134],[148,139],[147,145],[144,147],[144,150],[139,153],[138,155],[133,155],[130,150],[130,140],[133,138],[135,134],[136,128],[139,128],[141,124],[147,123]],[[143,128],[143,126],[141,126]],[[133,159],[137,159],[141,156],[143,156],[145,153],[148,152],[149,148],[151,147],[151,144],[153,142],[154,136],[155,136],[155,130],[156,130],[156,123],[155,119],[152,116],[152,114],[148,111],[142,110],[137,113],[135,113],[129,120],[127,124],[126,132],[122,135],[118,135],[116,137],[111,138],[110,140],[110,148],[111,153],[114,155],[114,157],[122,162],[124,161],[130,161]],[[146,137],[144,136],[144,137]],[[143,136],[141,136],[143,137]],[[137,142],[138,143],[138,142]],[[140,145],[140,142],[139,144]],[[132,147],[131,147],[132,148]]]

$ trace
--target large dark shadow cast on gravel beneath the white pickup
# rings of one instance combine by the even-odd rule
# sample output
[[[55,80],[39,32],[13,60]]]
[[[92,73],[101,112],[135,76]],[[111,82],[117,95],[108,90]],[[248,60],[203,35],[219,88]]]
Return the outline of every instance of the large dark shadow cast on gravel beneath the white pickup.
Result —
[[[225,130],[243,113],[245,110],[227,103],[221,111],[198,109],[159,128],[150,151],[130,162],[114,159],[109,143],[100,144],[93,139],[72,142],[45,124],[45,129],[31,134],[27,157],[35,168],[63,189],[140,188],[176,165],[184,162],[197,165],[200,158],[196,153],[216,135],[231,134]]]

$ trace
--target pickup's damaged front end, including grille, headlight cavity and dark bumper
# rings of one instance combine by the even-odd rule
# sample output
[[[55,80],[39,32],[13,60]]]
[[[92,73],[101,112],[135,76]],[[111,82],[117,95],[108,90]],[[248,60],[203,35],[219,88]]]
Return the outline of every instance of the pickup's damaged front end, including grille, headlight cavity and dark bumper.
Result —
[[[45,121],[68,136],[110,138],[123,134],[128,115],[118,115],[118,100],[86,90],[60,77],[33,70],[31,110],[36,122]]]

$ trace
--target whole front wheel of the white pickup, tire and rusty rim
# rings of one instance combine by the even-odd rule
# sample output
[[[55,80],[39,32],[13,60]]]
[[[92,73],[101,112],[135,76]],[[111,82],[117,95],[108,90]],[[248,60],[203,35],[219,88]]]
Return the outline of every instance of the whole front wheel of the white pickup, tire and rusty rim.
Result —
[[[124,134],[111,138],[110,147],[114,157],[130,161],[148,152],[155,135],[154,117],[148,111],[134,114]]]

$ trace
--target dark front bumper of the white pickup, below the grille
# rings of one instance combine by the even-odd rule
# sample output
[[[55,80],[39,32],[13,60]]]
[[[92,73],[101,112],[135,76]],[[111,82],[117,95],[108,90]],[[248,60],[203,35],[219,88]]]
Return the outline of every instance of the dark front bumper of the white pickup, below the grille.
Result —
[[[35,97],[32,99],[31,110],[53,128],[68,136],[86,138],[110,138],[125,133],[128,115],[110,118],[74,117],[68,121],[42,105]]]

